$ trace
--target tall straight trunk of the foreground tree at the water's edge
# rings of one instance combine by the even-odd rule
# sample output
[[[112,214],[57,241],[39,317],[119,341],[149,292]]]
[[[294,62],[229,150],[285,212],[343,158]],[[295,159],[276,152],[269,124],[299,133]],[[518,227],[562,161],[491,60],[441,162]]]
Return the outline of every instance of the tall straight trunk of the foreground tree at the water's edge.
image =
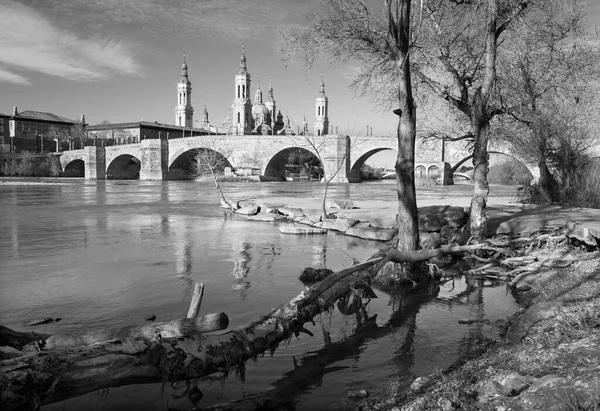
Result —
[[[416,250],[419,246],[417,196],[415,192],[416,114],[410,77],[410,4],[399,0],[398,30],[398,156],[396,185],[398,191],[398,249]]]

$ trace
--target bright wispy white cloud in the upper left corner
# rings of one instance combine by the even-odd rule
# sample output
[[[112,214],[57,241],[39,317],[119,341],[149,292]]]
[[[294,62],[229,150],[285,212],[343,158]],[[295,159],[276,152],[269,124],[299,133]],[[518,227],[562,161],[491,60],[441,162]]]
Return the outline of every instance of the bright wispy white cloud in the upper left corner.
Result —
[[[56,27],[36,10],[7,1],[0,4],[0,81],[30,83],[10,70],[27,70],[74,81],[107,78],[111,73],[135,74],[139,67],[122,43],[105,38],[80,38]]]

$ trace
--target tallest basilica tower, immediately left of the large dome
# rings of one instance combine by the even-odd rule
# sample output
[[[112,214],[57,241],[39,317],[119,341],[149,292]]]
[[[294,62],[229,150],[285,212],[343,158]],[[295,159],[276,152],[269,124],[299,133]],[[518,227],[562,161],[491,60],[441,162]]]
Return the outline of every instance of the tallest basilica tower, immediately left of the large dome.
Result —
[[[234,99],[231,105],[231,129],[235,134],[246,134],[254,128],[250,100],[250,73],[246,69],[246,55],[242,45],[240,68],[235,75]]]

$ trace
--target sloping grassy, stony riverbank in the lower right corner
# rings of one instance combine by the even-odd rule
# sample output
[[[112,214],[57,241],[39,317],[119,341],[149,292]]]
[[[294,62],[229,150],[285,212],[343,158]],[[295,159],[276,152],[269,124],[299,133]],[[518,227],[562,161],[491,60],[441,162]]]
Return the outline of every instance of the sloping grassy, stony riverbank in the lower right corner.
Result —
[[[408,392],[367,401],[367,410],[597,410],[600,407],[600,252],[570,246],[533,252],[561,267],[523,277],[522,309],[497,340],[463,364],[422,376]]]

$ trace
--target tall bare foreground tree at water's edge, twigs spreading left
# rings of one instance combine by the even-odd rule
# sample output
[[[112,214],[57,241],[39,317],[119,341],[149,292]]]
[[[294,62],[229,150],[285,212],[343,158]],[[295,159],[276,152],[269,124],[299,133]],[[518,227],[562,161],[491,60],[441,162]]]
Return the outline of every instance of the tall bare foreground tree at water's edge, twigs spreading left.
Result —
[[[306,27],[283,34],[288,57],[302,55],[311,67],[320,54],[334,65],[360,62],[353,88],[379,100],[384,87],[395,94],[398,121],[396,181],[398,248],[419,245],[414,183],[416,116],[410,76],[411,0],[322,0],[321,10],[308,15]]]

